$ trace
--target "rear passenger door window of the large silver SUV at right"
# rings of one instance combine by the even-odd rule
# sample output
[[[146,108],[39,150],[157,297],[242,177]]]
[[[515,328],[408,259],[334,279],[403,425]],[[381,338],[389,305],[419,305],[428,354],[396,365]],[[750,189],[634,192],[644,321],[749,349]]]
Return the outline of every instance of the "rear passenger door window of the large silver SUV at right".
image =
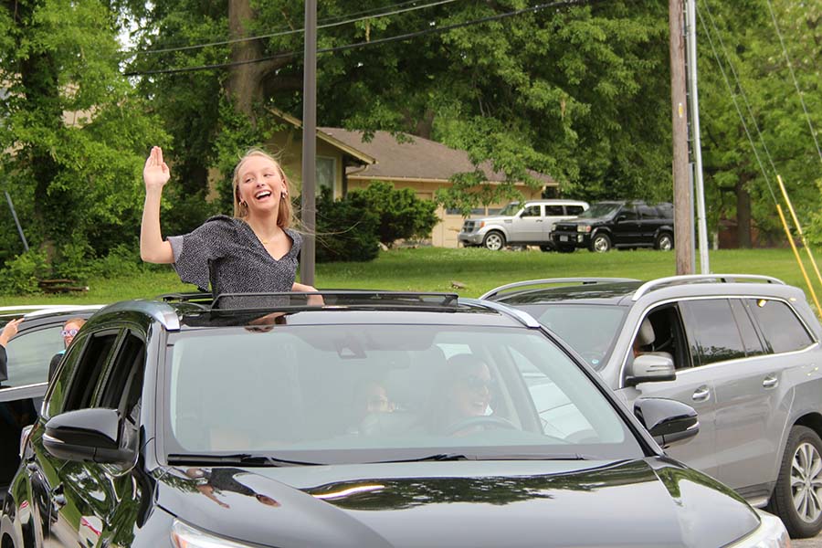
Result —
[[[727,299],[688,300],[680,305],[701,365],[745,357],[745,347]]]

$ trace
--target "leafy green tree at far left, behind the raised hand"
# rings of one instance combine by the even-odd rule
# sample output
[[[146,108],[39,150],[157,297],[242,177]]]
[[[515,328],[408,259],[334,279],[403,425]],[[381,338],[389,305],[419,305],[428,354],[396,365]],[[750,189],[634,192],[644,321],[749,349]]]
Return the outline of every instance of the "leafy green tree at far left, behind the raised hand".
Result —
[[[120,74],[113,14],[95,0],[0,3],[0,177],[58,274],[73,274],[64,258],[134,244],[146,143],[166,141]]]

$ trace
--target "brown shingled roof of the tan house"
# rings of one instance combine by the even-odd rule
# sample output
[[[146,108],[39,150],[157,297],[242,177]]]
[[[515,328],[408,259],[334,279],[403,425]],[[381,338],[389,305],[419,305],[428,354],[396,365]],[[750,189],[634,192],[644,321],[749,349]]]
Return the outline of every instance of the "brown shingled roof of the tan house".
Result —
[[[458,151],[440,143],[408,135],[408,141],[397,142],[389,132],[374,132],[374,139],[363,141],[363,132],[352,132],[341,128],[317,128],[319,132],[376,158],[376,163],[365,169],[353,168],[357,177],[368,179],[408,179],[448,181],[454,175],[473,172],[475,166],[465,151]],[[479,164],[489,182],[502,182],[505,174],[494,172],[490,162]],[[531,176],[543,184],[556,184],[552,177],[529,171]]]

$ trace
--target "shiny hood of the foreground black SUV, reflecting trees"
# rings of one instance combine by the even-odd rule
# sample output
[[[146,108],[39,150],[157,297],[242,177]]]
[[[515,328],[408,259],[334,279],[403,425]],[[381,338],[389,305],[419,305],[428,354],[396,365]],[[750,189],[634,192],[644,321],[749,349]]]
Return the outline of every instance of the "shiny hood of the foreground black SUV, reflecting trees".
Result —
[[[160,479],[163,509],[279,548],[711,547],[759,523],[731,490],[666,458],[192,470]]]

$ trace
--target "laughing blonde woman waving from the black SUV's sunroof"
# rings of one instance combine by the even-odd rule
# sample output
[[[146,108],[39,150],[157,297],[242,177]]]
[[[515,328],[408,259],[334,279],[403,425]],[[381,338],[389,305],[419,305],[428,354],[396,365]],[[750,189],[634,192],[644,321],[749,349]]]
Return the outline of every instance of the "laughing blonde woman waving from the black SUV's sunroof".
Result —
[[[184,283],[217,296],[227,293],[315,291],[296,283],[302,237],[291,229],[289,181],[268,153],[252,149],[234,170],[234,217],[213,216],[183,236],[163,240],[160,199],[169,180],[163,151],[153,147],[145,161],[145,205],[140,229],[140,257],[151,263],[174,263]],[[309,304],[321,300],[309,297]],[[219,306],[242,306],[242,299]]]

